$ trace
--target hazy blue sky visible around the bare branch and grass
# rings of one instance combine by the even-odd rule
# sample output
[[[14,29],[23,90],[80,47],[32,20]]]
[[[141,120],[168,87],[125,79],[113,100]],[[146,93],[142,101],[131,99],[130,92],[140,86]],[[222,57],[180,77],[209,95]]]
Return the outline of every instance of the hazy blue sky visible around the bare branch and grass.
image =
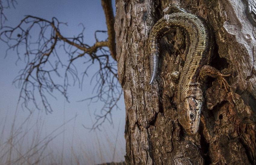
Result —
[[[113,0],[112,3],[114,7],[115,1]],[[79,23],[83,23],[86,28],[84,31],[84,41],[88,45],[95,43],[94,32],[96,30],[106,30],[105,16],[100,0],[20,0],[15,8],[16,9],[11,8],[4,11],[8,18],[5,25],[12,27],[16,26],[25,15],[42,17],[48,20],[51,20],[54,16],[60,22],[67,22],[68,26],[61,27],[61,34],[65,37],[73,37],[79,34],[82,31],[82,26],[79,26]],[[103,37],[105,36],[103,35]],[[17,125],[22,123],[23,120],[29,115],[28,110],[22,110],[20,105],[17,106],[20,89],[12,84],[12,81],[18,75],[20,69],[25,67],[25,63],[21,60],[17,62],[17,65],[15,65],[17,60],[17,55],[15,52],[9,51],[7,57],[5,57],[5,50],[7,49],[7,46],[2,42],[0,43],[0,49],[2,50],[0,55],[0,120],[3,120],[6,114],[6,128],[5,133],[2,136],[4,138],[5,136],[8,138],[16,107],[18,115],[15,123]],[[61,53],[62,52],[60,50],[60,54]],[[82,63],[77,63],[77,65],[80,74],[83,72],[84,66]],[[57,100],[48,98],[50,100],[53,113],[46,115],[45,111],[43,110],[35,110],[35,113],[39,113],[40,118],[42,118],[44,121],[44,126],[42,128],[44,130],[44,134],[49,134],[51,131],[55,130],[58,128],[58,126],[77,114],[75,120],[72,120],[67,125],[60,128],[59,131],[65,130],[64,133],[60,134],[53,140],[54,146],[52,147],[58,150],[58,152],[61,152],[64,146],[64,155],[66,154],[66,158],[70,156],[70,146],[73,138],[73,150],[76,151],[79,157],[84,156],[81,148],[77,147],[81,146],[81,143],[84,145],[83,150],[90,153],[88,154],[89,156],[87,155],[87,157],[91,159],[91,162],[85,163],[98,164],[101,163],[101,161],[122,161],[124,160],[123,156],[125,154],[125,108],[123,98],[119,101],[121,110],[114,109],[112,112],[112,125],[105,122],[101,127],[102,131],[89,131],[82,126],[85,125],[90,127],[92,122],[95,121],[93,113],[95,111],[98,112],[97,110],[100,110],[102,106],[99,102],[91,104],[89,101],[77,102],[93,95],[93,85],[90,85],[90,77],[94,74],[93,70],[94,68],[91,69],[91,74],[89,73],[88,78],[86,78],[88,81],[83,84],[82,91],[79,89],[78,84],[75,84],[75,86],[71,86],[69,88],[68,95],[70,103],[66,102],[64,97],[60,94],[54,93]],[[39,104],[39,107],[40,106],[42,107],[42,105]],[[31,105],[30,108],[33,109],[33,105]],[[34,117],[38,119],[37,115]],[[0,130],[1,126],[3,126],[1,123],[2,122],[0,121]],[[113,160],[113,146],[115,145],[116,137],[118,139],[116,146],[117,153]],[[108,153],[99,153],[99,148],[101,148],[103,152],[108,150]],[[67,164],[68,163],[69,162],[67,162]]]

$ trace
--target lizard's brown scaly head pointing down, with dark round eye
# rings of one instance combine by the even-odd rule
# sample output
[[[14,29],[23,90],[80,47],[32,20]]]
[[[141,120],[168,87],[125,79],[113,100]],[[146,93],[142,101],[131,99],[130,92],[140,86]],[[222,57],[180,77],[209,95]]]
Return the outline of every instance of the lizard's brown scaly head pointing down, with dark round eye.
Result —
[[[186,98],[177,107],[179,122],[189,135],[194,135],[199,126],[202,101]]]

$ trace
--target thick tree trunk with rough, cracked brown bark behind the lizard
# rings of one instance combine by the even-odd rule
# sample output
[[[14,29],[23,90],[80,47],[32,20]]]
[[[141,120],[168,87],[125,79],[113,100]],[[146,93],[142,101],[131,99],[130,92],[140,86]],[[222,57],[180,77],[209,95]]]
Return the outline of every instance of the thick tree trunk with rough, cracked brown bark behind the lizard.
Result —
[[[148,35],[162,10],[176,1],[116,0],[118,76],[126,105],[126,164],[256,164],[255,1],[186,0],[179,6],[197,14],[215,31],[211,65],[231,72],[226,92],[208,78],[198,133],[178,122],[170,73],[182,55],[170,36],[161,40],[160,67],[149,83]],[[226,69],[225,69],[226,68]]]

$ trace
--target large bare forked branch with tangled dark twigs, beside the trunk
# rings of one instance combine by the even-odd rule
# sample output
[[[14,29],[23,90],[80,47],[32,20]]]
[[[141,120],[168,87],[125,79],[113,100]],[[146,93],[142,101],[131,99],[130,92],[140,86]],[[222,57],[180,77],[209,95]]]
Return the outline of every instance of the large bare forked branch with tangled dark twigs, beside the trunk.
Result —
[[[68,101],[67,90],[70,84],[77,82],[79,87],[82,87],[88,70],[96,64],[99,68],[92,77],[97,82],[94,87],[96,94],[87,99],[104,102],[102,115],[96,117],[98,124],[107,117],[111,119],[110,111],[117,107],[122,90],[117,79],[111,0],[102,0],[102,7],[106,16],[108,39],[98,41],[95,38],[93,46],[84,43],[84,27],[76,37],[64,37],[60,32],[60,26],[66,23],[59,22],[55,17],[49,21],[36,16],[26,16],[16,27],[3,28],[0,40],[9,46],[6,55],[8,51],[15,50],[18,60],[24,59],[26,63],[25,68],[14,79],[14,84],[21,88],[19,102],[22,100],[23,107],[30,109],[28,103],[32,101],[36,108],[39,108],[39,97],[46,112],[52,112],[47,95],[55,98],[55,91],[58,91]],[[64,53],[60,53],[60,50],[64,50]],[[81,60],[84,61],[86,69],[80,78],[76,62]],[[70,78],[73,83],[70,82]],[[63,84],[59,83],[60,79],[64,80]],[[97,123],[94,127],[97,127]]]

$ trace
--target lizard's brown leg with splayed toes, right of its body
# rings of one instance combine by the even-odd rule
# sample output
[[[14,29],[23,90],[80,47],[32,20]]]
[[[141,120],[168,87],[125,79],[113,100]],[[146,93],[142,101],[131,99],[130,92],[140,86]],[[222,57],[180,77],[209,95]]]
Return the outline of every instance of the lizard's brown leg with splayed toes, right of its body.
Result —
[[[225,90],[227,92],[229,91],[228,88],[230,88],[230,85],[226,81],[225,77],[229,77],[230,74],[223,74],[218,69],[212,66],[204,65],[199,72],[199,78],[202,81],[205,81],[208,76],[211,76],[213,78],[217,78],[217,80],[220,80],[220,88],[222,88],[222,85],[224,85]]]

